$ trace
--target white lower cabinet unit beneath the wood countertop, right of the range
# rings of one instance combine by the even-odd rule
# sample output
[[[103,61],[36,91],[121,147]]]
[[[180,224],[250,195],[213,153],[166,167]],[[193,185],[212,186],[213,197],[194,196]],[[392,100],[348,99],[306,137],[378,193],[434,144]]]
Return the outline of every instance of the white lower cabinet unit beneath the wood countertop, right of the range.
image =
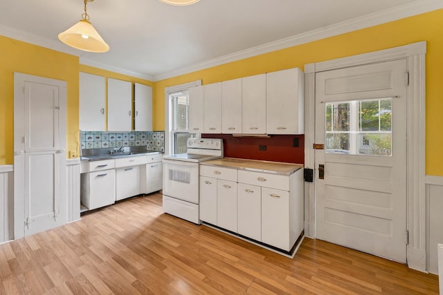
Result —
[[[200,175],[202,221],[291,252],[303,231],[303,169],[284,175],[201,164]]]

